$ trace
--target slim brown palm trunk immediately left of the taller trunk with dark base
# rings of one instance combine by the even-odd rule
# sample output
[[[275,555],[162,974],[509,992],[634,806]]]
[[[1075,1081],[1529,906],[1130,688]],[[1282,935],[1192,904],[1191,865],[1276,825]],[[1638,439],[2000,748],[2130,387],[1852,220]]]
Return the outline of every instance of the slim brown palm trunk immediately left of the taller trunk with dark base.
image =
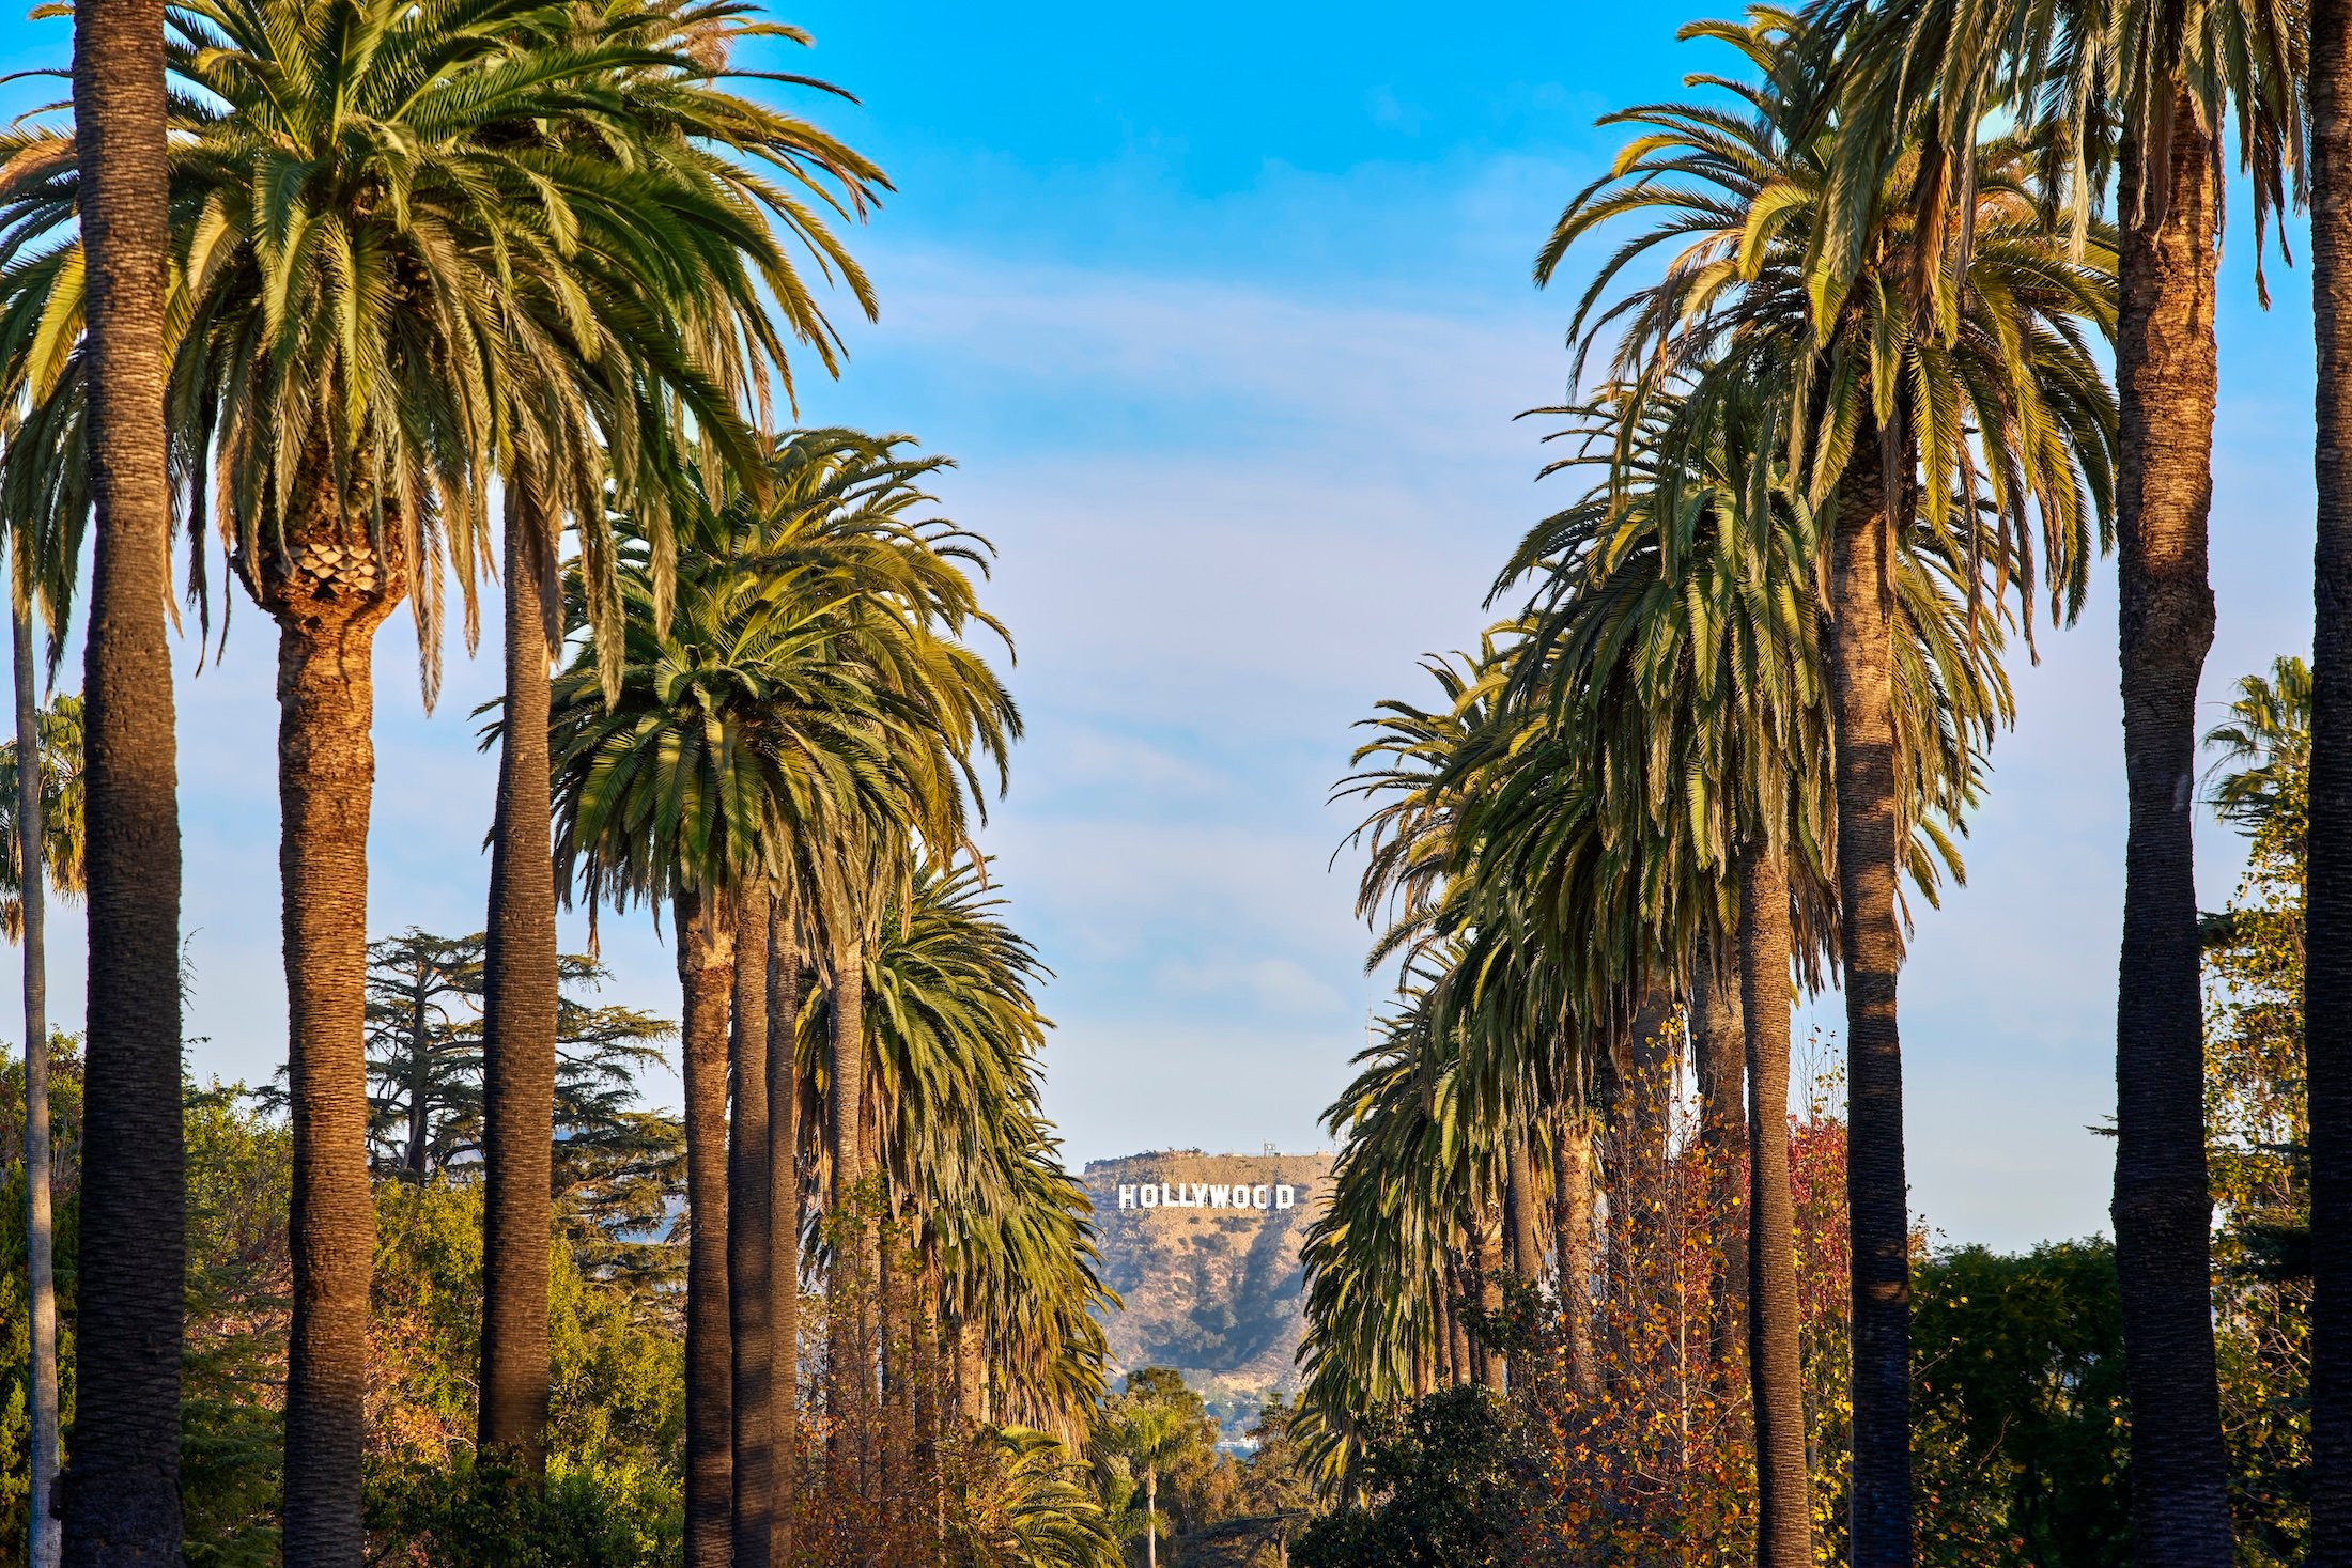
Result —
[[[1748,1058],[1748,1389],[1757,1441],[1757,1568],[1811,1568],[1797,1208],[1788,1175],[1788,872],[1740,856],[1740,1020]]]

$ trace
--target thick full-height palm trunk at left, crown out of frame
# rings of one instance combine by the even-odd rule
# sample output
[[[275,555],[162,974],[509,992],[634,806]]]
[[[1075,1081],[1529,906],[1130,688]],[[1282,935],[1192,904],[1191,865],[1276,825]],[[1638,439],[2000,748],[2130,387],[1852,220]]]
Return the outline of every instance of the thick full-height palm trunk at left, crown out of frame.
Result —
[[[96,550],[82,649],[89,1011],[66,1561],[181,1552],[186,1157],[179,1077],[179,750],[162,618],[162,0],[73,9],[73,118]]]

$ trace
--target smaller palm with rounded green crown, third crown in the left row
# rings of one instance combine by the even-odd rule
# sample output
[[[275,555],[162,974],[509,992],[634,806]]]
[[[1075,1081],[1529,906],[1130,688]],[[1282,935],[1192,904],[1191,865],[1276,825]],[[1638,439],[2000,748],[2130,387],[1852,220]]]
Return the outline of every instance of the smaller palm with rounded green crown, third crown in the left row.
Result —
[[[816,856],[903,809],[903,759],[924,759],[929,745],[866,670],[840,658],[854,592],[814,571],[802,588],[818,588],[771,592],[720,517],[680,534],[666,628],[656,574],[668,562],[642,536],[623,543],[623,663],[609,668],[602,646],[583,642],[555,682],[550,719],[562,884],[579,870],[590,905],[670,903],[677,919],[696,1563],[727,1559],[734,1507],[724,1124],[736,898],[753,882],[790,877],[790,856]],[[576,621],[583,599],[574,595]]]

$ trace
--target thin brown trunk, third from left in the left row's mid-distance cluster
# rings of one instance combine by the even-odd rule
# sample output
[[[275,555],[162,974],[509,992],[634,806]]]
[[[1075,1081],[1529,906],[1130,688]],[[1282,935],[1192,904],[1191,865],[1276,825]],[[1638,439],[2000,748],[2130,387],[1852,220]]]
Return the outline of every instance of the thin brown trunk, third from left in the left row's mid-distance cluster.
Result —
[[[790,1563],[800,1507],[800,929],[783,900],[769,912],[767,1041],[769,1410],[776,1432],[769,1556]]]

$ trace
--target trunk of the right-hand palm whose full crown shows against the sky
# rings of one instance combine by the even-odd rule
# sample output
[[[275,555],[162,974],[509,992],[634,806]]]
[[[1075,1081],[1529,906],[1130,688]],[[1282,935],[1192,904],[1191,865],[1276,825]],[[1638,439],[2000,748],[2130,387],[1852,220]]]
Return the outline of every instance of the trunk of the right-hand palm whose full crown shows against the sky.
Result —
[[[1853,1232],[1853,1568],[1907,1568],[1910,1190],[1896,978],[1893,520],[1865,421],[1837,487],[1830,693],[1837,722],[1837,896],[1846,980],[1846,1208]],[[1769,1103],[1759,1095],[1759,1107]],[[1762,1114],[1762,1112],[1759,1112]]]

